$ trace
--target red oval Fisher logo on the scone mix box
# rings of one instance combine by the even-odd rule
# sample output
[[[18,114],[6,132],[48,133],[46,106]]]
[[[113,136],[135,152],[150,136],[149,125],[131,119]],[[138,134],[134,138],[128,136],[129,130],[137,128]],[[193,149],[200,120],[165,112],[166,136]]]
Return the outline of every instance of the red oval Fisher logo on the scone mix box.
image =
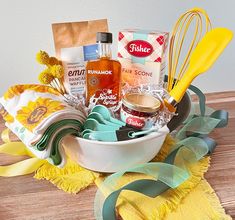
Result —
[[[153,52],[153,46],[144,40],[130,41],[126,46],[126,49],[129,54],[135,57],[147,57]]]

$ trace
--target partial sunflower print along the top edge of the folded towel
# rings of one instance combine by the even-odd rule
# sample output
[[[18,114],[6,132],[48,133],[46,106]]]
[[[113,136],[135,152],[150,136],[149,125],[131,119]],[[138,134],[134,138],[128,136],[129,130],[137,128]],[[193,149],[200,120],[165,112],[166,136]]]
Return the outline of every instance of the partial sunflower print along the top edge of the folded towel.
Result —
[[[4,99],[11,99],[14,96],[18,96],[23,93],[25,90],[34,90],[35,92],[41,93],[51,93],[54,95],[60,95],[60,93],[53,89],[52,87],[45,86],[45,85],[35,85],[35,84],[28,84],[28,85],[16,85],[10,87],[7,92],[4,94]]]

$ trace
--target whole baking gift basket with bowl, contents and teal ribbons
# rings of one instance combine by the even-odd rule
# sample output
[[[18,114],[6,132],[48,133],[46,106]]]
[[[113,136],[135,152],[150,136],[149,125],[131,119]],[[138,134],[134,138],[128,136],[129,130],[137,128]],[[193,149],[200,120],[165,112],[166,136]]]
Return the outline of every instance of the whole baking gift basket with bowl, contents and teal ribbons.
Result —
[[[156,197],[184,182],[190,175],[185,161],[211,152],[215,142],[207,134],[227,123],[227,112],[205,108],[204,94],[191,83],[213,65],[232,32],[212,28],[207,13],[194,8],[181,15],[170,36],[120,31],[115,60],[106,19],[56,23],[52,30],[56,57],[45,51],[36,55],[45,66],[41,84],[12,86],[0,99],[6,126],[28,154],[42,159],[37,167],[47,161],[63,169],[73,161],[97,173],[114,173],[96,194],[97,219],[116,218],[123,190]],[[192,104],[189,89],[199,105]],[[169,133],[179,141],[163,162],[150,162],[162,154]],[[126,173],[151,178],[119,186]]]

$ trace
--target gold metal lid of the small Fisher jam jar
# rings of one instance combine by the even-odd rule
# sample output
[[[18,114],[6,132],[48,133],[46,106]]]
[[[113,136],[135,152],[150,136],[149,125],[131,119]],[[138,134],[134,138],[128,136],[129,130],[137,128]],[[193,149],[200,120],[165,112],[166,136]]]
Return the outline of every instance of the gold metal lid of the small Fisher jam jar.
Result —
[[[159,99],[145,93],[126,93],[122,103],[130,109],[149,113],[158,111],[161,106]]]

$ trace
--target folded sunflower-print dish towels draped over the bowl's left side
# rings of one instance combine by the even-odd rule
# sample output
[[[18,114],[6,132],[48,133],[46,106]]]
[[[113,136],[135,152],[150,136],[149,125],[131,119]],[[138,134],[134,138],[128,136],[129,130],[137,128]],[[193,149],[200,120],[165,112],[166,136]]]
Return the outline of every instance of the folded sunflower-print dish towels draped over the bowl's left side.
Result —
[[[65,164],[61,140],[78,136],[86,119],[84,113],[69,106],[64,97],[43,85],[16,85],[2,98],[1,114],[31,152],[54,165]]]

